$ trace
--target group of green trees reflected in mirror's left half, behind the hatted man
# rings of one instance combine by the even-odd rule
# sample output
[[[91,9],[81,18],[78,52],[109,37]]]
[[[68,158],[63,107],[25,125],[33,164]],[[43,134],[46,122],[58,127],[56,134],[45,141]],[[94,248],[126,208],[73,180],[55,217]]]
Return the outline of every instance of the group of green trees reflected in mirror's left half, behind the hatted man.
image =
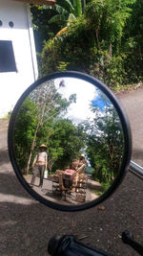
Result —
[[[68,107],[75,102],[75,94],[69,100],[62,98],[59,87],[55,88],[50,81],[34,89],[21,105],[15,122],[14,145],[23,174],[29,174],[40,144],[48,146],[50,173],[66,168],[80,154],[84,147],[83,129],[64,118]]]

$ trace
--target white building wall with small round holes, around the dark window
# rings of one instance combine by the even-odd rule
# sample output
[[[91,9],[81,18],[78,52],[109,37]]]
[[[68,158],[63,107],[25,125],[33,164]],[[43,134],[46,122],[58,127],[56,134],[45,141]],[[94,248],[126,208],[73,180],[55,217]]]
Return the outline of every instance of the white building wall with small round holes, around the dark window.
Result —
[[[0,73],[0,117],[12,109],[21,94],[37,78],[31,15],[27,4],[0,0],[0,40],[11,40],[17,72]],[[14,26],[10,28],[9,22]]]

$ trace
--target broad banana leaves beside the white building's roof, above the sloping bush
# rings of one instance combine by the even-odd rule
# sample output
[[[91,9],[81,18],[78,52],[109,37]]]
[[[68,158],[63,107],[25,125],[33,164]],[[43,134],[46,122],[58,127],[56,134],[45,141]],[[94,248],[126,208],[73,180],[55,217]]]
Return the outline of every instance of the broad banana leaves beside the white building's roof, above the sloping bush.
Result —
[[[40,53],[43,43],[69,25],[82,14],[81,0],[56,0],[54,7],[31,5],[31,19],[34,30],[37,52]]]

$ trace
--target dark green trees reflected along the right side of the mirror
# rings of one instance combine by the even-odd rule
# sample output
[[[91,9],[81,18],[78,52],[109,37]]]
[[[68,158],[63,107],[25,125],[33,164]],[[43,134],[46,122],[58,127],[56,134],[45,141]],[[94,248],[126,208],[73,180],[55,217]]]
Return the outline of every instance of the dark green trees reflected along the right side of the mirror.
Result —
[[[122,161],[124,140],[118,114],[105,99],[104,105],[92,105],[95,117],[84,127],[88,132],[87,155],[92,165],[92,175],[108,187],[118,174]]]

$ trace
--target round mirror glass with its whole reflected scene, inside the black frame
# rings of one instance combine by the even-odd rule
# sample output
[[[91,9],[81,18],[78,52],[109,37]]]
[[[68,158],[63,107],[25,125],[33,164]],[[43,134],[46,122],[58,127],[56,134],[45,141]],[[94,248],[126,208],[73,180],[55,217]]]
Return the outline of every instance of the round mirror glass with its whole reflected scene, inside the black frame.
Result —
[[[14,125],[18,168],[41,197],[77,205],[99,198],[118,175],[120,119],[88,81],[58,78],[31,91]]]

